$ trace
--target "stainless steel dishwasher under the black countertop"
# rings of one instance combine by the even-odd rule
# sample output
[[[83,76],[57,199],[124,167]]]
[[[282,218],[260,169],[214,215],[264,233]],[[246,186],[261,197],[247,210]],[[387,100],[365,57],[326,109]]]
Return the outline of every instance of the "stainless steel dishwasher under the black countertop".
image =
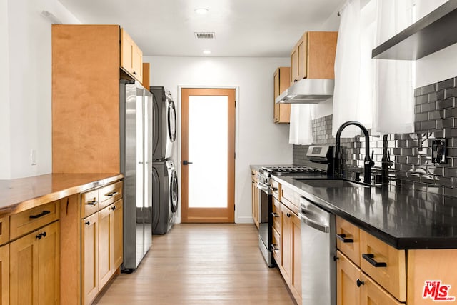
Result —
[[[336,305],[335,215],[300,199],[303,305]]]

